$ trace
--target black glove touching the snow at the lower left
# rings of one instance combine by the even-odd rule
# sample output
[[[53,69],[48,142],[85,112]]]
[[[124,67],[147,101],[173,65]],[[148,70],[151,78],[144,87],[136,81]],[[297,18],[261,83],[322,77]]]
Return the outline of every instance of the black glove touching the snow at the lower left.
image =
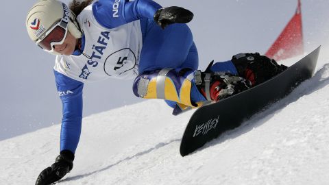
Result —
[[[66,173],[73,169],[73,160],[74,153],[69,150],[61,151],[55,163],[41,171],[36,179],[36,185],[47,185],[62,179]]]

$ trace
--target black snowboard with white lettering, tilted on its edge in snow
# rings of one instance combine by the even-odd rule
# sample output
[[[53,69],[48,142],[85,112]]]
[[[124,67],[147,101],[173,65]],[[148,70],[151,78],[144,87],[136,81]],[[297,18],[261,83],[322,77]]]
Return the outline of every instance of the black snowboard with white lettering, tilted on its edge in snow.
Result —
[[[180,154],[192,153],[289,95],[301,82],[313,76],[319,51],[320,47],[262,84],[197,109],[186,126]]]

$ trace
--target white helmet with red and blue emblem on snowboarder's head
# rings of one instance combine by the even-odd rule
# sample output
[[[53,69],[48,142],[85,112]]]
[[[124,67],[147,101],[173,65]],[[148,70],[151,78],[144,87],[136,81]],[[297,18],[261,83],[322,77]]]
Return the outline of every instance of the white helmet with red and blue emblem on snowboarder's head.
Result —
[[[36,42],[42,49],[52,54],[58,54],[53,51],[54,44],[62,44],[64,38],[61,40],[47,40],[51,48],[40,45],[42,40],[47,38],[47,35],[51,33],[56,25],[60,25],[64,30],[61,33],[62,37],[66,37],[66,33],[69,32],[75,38],[81,38],[82,32],[77,24],[75,14],[68,8],[65,3],[58,0],[39,0],[38,3],[29,10],[26,18],[26,28],[29,38]],[[57,37],[58,34],[56,34]]]

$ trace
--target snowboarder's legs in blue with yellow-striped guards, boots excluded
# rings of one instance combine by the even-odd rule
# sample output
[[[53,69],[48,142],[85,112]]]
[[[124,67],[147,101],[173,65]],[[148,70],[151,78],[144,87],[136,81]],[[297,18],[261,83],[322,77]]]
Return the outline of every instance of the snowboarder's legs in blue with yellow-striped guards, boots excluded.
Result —
[[[163,30],[152,21],[143,21],[142,27],[140,75],[134,82],[134,94],[166,99],[169,106],[177,103],[183,109],[206,101],[194,82],[198,54],[187,25],[175,24]],[[232,62],[215,64],[212,70],[236,73]]]

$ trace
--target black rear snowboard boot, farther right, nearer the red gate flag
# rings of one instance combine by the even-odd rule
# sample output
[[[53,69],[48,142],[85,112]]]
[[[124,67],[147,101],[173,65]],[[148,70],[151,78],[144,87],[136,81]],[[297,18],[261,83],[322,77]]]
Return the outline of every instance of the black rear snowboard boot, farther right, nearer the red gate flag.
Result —
[[[252,86],[261,84],[287,69],[287,66],[279,65],[276,60],[259,53],[239,53],[232,57],[232,63],[240,77],[252,82]]]

